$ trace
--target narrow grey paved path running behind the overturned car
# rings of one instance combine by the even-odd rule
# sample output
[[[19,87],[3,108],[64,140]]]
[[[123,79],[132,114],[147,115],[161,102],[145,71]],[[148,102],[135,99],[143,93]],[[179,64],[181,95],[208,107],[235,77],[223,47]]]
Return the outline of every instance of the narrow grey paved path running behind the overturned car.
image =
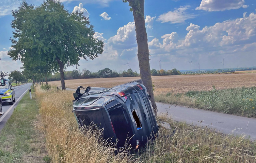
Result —
[[[69,89],[70,91],[76,91]],[[256,119],[218,113],[202,109],[187,108],[170,104],[157,103],[158,115],[168,113],[169,117],[178,122],[210,128],[217,132],[241,136],[246,135],[256,140]]]

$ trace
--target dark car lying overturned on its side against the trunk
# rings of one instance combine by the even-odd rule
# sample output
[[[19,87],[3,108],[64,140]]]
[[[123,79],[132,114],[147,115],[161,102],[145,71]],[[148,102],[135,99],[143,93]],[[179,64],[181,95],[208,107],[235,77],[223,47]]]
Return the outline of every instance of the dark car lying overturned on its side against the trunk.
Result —
[[[158,124],[150,95],[141,83],[134,81],[113,88],[87,87],[84,93],[80,92],[83,87],[78,87],[73,103],[78,124],[103,128],[103,138],[117,143],[118,148],[131,145],[138,149],[154,139]]]

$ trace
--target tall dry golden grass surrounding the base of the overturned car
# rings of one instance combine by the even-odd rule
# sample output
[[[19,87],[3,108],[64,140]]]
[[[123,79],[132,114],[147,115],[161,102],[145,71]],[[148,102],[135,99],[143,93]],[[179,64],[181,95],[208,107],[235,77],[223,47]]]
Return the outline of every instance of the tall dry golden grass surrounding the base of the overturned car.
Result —
[[[72,92],[38,87],[36,96],[53,163],[256,163],[255,142],[173,122],[167,115],[158,118],[172,130],[160,127],[158,138],[139,151],[128,149],[115,155],[113,145],[100,138],[100,131],[87,128],[82,133],[78,129],[71,112]]]

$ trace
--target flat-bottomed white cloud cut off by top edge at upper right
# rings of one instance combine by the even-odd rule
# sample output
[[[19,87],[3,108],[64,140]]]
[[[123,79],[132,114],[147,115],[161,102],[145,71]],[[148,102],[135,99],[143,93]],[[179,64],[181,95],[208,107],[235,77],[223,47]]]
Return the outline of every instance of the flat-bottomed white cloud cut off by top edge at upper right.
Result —
[[[240,7],[247,8],[248,5],[244,5],[244,3],[244,0],[202,0],[199,7],[196,7],[196,10],[224,11]]]

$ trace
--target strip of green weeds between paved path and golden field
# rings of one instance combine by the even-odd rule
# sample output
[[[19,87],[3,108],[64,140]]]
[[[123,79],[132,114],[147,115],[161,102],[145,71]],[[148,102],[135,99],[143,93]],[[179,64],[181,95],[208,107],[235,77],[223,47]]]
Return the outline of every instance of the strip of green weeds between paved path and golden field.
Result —
[[[256,87],[217,90],[213,86],[211,91],[160,94],[156,96],[156,100],[163,103],[256,117]]]

